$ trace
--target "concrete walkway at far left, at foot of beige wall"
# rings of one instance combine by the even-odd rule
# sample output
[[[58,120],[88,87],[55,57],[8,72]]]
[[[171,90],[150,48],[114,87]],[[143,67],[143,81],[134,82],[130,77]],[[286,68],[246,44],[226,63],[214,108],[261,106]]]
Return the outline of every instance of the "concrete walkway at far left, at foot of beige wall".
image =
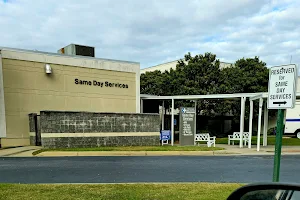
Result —
[[[32,157],[32,153],[41,149],[38,146],[25,146],[25,147],[11,147],[0,149],[0,157]]]

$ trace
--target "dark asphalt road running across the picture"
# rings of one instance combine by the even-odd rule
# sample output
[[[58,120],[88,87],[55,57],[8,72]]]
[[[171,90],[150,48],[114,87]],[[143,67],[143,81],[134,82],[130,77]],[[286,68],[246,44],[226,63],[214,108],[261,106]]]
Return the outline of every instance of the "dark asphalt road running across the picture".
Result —
[[[300,183],[300,156],[283,156],[280,181]],[[273,156],[0,157],[0,182],[261,182]]]

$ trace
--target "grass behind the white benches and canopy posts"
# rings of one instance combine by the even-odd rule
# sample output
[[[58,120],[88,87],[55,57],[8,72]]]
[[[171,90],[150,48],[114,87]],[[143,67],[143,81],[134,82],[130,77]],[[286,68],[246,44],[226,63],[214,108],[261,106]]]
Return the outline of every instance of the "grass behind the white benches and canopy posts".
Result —
[[[268,135],[268,145],[275,145],[275,136],[269,136]],[[216,139],[217,144],[228,144],[228,138],[217,138]],[[235,141],[236,144],[238,144],[238,141]],[[257,136],[252,137],[253,145],[257,144]],[[263,143],[262,137],[260,138],[260,144]],[[283,146],[300,146],[300,139],[298,138],[282,138],[282,145]]]

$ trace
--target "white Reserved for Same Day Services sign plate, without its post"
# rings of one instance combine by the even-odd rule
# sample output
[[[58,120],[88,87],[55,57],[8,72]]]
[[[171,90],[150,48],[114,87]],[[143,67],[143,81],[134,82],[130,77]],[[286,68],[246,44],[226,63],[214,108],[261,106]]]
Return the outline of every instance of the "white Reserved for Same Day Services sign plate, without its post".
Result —
[[[268,109],[293,108],[296,100],[297,67],[294,64],[271,67]]]

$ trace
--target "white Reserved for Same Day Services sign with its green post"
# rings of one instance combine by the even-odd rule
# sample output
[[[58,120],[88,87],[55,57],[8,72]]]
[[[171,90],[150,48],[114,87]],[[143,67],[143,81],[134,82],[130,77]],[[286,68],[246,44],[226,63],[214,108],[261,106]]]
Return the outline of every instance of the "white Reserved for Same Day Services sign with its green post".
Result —
[[[284,111],[295,106],[297,75],[294,64],[271,67],[269,72],[268,109],[278,110],[273,182],[279,182]]]

